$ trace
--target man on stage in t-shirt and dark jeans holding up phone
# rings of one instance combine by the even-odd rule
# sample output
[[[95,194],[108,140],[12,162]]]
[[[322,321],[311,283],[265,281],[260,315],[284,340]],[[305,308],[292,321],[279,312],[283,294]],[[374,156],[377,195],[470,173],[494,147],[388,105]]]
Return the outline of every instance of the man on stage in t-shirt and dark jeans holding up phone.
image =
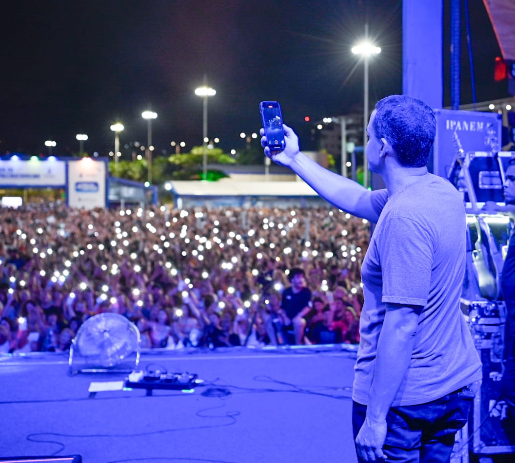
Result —
[[[393,95],[367,127],[371,192],[286,147],[265,154],[293,169],[336,207],[377,224],[362,267],[365,304],[353,386],[358,460],[448,462],[466,422],[479,356],[459,308],[465,270],[465,210],[457,191],[427,172],[433,110]],[[263,135],[263,134],[262,134]]]

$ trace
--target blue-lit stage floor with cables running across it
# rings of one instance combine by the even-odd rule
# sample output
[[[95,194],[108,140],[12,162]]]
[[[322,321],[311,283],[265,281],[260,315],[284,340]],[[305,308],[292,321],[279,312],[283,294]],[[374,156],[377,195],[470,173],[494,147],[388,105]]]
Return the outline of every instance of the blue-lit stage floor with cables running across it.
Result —
[[[0,456],[85,463],[355,463],[355,346],[143,353],[140,368],[195,373],[193,392],[99,392],[127,374],[68,373],[64,354],[0,356]]]

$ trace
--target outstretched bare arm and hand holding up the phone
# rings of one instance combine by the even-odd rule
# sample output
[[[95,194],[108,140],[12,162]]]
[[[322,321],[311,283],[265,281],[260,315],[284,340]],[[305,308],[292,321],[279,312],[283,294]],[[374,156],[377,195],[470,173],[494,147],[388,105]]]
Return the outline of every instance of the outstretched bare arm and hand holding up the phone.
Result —
[[[293,170],[322,198],[335,207],[357,217],[366,218],[371,222],[379,219],[379,214],[373,209],[371,191],[359,183],[335,174],[299,150],[299,139],[293,129],[283,124],[286,146],[282,151],[270,151],[261,129],[261,144],[265,155],[277,164]]]

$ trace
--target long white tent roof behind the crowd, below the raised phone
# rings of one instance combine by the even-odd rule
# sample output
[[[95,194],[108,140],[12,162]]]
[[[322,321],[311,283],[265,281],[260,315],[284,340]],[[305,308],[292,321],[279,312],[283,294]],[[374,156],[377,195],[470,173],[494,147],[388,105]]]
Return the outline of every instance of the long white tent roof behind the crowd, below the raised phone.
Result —
[[[169,182],[176,196],[317,196],[304,181],[236,181],[222,178],[216,182],[177,180]]]

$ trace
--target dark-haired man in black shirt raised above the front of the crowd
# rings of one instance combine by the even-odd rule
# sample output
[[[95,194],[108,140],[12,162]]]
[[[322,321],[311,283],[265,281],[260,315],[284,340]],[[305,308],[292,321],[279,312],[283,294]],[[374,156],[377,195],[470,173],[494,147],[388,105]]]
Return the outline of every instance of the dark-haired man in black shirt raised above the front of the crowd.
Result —
[[[302,344],[306,320],[304,317],[311,311],[311,291],[306,286],[304,270],[293,268],[288,274],[291,283],[289,288],[283,291],[281,308],[286,312],[286,317],[293,326],[295,344]]]

